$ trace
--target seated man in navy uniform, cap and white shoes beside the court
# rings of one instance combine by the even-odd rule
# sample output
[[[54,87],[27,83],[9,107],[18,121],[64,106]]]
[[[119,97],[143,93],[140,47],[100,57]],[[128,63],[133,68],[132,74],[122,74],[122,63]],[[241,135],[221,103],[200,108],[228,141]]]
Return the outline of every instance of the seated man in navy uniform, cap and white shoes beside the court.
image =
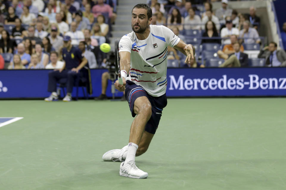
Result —
[[[82,52],[79,48],[71,45],[71,37],[65,36],[63,38],[64,48],[62,50],[63,60],[65,62],[63,68],[52,71],[49,73],[48,91],[52,94],[45,98],[46,102],[55,101],[58,99],[57,82],[60,79],[67,79],[66,91],[67,94],[64,97],[64,102],[71,101],[71,92],[74,86],[74,80],[79,77],[79,72],[87,64],[87,59],[82,56]]]

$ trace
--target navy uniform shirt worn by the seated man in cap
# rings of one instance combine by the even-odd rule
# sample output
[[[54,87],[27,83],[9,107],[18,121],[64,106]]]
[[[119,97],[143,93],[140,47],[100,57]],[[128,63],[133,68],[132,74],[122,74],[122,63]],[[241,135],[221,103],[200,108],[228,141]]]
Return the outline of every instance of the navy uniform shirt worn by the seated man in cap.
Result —
[[[63,60],[66,62],[66,69],[77,68],[83,59],[81,54],[82,52],[77,47],[72,47],[69,52],[63,48]]]

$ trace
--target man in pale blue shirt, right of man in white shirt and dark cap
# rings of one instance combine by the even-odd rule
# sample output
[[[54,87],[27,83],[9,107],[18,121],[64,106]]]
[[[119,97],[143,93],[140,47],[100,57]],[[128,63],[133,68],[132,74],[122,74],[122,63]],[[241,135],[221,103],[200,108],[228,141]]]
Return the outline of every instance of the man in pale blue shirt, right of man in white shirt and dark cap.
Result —
[[[245,44],[260,43],[259,35],[257,30],[250,27],[248,20],[243,23],[243,30],[240,31],[241,38],[243,38]]]

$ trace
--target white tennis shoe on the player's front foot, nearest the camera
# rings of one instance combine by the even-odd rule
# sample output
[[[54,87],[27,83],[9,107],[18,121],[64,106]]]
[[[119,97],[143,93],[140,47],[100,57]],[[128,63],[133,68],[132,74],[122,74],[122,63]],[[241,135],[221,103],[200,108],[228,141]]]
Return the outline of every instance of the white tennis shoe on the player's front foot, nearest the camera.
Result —
[[[120,164],[119,174],[121,176],[124,176],[124,177],[137,178],[137,179],[142,179],[142,178],[147,178],[148,177],[148,173],[143,172],[142,170],[140,170],[135,165],[135,162],[133,162],[131,164],[129,164],[127,162],[126,163],[122,162]]]

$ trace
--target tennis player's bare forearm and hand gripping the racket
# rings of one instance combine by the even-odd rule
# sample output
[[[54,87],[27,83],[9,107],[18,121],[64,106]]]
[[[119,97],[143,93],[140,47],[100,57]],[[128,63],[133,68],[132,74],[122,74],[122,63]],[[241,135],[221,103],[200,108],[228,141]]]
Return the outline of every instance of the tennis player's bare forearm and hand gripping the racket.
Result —
[[[126,71],[126,75],[128,75],[130,71],[130,55],[131,53],[128,51],[121,51],[119,52],[119,65],[120,65],[120,71]],[[124,91],[125,90],[125,85],[126,85],[126,79],[122,76],[122,81],[123,84],[119,84],[118,80],[115,81],[114,86],[117,90],[119,91]]]

